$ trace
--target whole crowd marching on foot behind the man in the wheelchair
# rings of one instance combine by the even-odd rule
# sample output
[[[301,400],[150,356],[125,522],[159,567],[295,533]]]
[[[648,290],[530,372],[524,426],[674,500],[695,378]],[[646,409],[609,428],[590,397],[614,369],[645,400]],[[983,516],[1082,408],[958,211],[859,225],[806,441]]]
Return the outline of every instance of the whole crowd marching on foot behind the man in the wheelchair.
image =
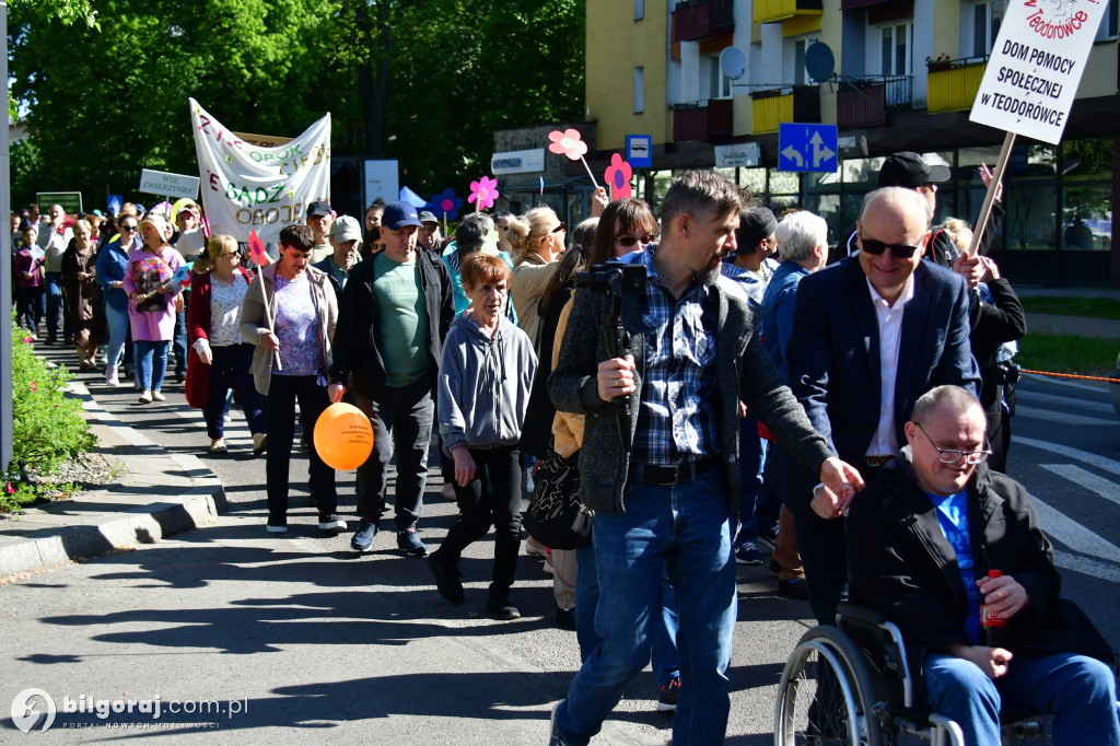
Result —
[[[352,548],[365,552],[391,510],[398,549],[427,557],[448,603],[466,602],[460,556],[493,529],[485,610],[496,619],[521,615],[511,590],[533,476],[542,465],[578,474],[594,541],[575,550],[526,541],[547,557],[556,624],[577,632],[584,659],[553,711],[552,743],[587,743],[651,658],[657,708],[689,710],[674,737],[716,743],[727,719],[735,563],[768,562],[778,591],[811,600],[828,623],[846,581],[842,523],[831,519],[905,445],[904,408],[939,384],[978,393],[983,410],[984,456],[937,447],[941,460],[964,453],[969,465],[1005,468],[1010,358],[1025,315],[986,255],[998,202],[979,252],[969,251],[964,221],[928,229],[946,178],[915,153],[887,158],[858,230],[831,257],[823,218],[775,215],[712,171],[675,179],[660,216],[600,189],[579,225],[538,206],[467,215],[448,236],[405,202],[379,201],[361,222],[314,202],[306,224],[284,227],[264,252],[207,236],[190,201],[76,218],[32,205],[12,214],[18,321],[44,344],[73,345],[82,371],[103,366],[108,385],[131,381],[146,404],[165,399],[174,365],[205,414],[211,453],[228,449],[236,401],[267,459],[270,533],[288,531],[297,425],[318,528],[352,528]],[[626,333],[610,354],[597,328],[607,301],[576,285],[607,262],[643,267],[648,278],[637,300],[619,304]],[[836,262],[843,269],[821,272]],[[819,272],[824,279],[810,279]],[[847,306],[828,305],[841,274],[870,291],[866,317],[852,321],[862,339],[878,339],[868,371],[838,343],[855,334]],[[922,341],[911,349],[917,319]],[[868,337],[859,325],[878,332]],[[745,346],[732,357],[735,344]],[[856,370],[836,369],[841,358]],[[880,399],[869,414],[843,411],[866,403],[843,390],[849,375],[874,380],[864,382]],[[608,407],[614,399],[628,404]],[[374,430],[351,526],[309,435],[339,401]],[[433,436],[431,466],[459,516],[429,553],[419,529]],[[661,500],[672,510],[661,512]]]

